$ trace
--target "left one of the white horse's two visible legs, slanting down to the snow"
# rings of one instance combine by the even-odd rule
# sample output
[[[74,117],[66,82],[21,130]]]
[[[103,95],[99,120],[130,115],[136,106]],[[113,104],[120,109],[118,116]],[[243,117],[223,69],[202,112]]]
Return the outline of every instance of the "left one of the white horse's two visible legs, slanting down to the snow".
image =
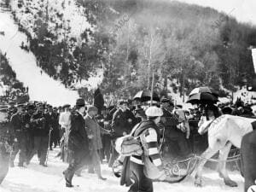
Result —
[[[218,148],[207,148],[207,150],[201,154],[201,160],[199,160],[198,166],[195,172],[195,186],[201,187],[202,169],[207,163],[207,159],[211,158],[213,154],[218,152]]]

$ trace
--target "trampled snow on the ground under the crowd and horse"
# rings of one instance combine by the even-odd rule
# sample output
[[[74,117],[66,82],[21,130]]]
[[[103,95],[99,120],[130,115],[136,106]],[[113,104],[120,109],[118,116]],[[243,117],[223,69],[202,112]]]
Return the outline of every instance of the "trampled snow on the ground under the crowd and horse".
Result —
[[[32,162],[26,168],[15,166],[9,169],[7,177],[0,186],[1,192],[125,192],[128,188],[119,185],[119,178],[114,177],[112,169],[106,163],[102,165],[102,176],[107,177],[107,181],[100,181],[95,174],[82,172],[82,177],[73,177],[73,184],[79,185],[73,189],[65,187],[62,172],[67,168],[67,164],[61,162],[55,155],[60,148],[49,151],[48,167],[38,165],[38,157],[34,156]],[[18,163],[18,157],[15,165]],[[224,185],[217,172],[204,170],[203,187],[194,186],[194,177],[190,176],[181,183],[154,183],[154,191],[166,192],[241,192],[243,191],[243,178],[238,172],[230,172],[231,179],[238,183],[237,188],[230,188]]]

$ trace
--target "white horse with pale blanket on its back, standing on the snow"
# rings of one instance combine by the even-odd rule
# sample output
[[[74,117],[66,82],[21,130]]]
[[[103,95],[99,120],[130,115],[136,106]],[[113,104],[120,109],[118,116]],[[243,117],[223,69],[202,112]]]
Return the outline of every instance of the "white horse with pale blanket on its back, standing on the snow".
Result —
[[[202,135],[208,131],[208,148],[201,154],[201,159],[196,169],[195,186],[201,186],[202,169],[207,159],[219,151],[218,172],[224,178],[224,183],[230,187],[236,187],[237,183],[232,181],[226,171],[226,162],[232,144],[241,148],[241,138],[253,131],[252,122],[256,119],[248,119],[239,116],[224,114],[217,119],[203,123],[198,132]]]

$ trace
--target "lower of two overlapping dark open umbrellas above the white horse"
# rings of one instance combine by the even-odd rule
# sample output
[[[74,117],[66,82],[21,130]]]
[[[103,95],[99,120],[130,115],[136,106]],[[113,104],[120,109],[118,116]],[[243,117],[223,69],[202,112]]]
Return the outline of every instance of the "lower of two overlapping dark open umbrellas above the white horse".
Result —
[[[212,93],[195,93],[191,96],[189,96],[187,102],[191,104],[196,104],[196,103],[216,103],[218,102],[218,97],[213,96]]]

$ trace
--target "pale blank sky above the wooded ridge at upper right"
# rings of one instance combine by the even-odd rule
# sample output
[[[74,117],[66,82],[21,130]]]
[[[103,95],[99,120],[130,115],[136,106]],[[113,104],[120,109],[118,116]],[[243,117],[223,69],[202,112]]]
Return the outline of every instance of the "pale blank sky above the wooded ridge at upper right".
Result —
[[[236,20],[256,25],[256,0],[177,0],[211,7],[234,16]],[[233,11],[232,11],[233,10]],[[231,12],[231,13],[230,13]]]

